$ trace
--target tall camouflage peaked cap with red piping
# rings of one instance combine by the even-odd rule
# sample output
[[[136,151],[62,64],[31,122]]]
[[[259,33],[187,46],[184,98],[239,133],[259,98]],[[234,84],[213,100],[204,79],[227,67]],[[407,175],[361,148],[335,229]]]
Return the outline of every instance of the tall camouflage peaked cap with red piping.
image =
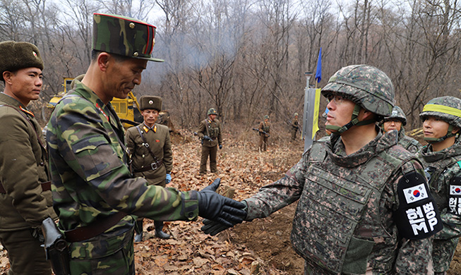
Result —
[[[152,58],[155,44],[154,25],[113,14],[93,14],[92,49],[134,59],[163,62]]]

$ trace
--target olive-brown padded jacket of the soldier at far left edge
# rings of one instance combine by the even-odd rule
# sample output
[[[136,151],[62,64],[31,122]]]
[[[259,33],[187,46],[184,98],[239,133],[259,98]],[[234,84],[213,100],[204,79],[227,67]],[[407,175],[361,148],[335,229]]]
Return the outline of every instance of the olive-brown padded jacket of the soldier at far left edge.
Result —
[[[13,97],[0,93],[0,231],[37,228],[47,217],[56,219],[49,181],[47,152],[40,125],[32,112]],[[25,118],[27,117],[27,118]],[[38,137],[38,138],[37,138]]]

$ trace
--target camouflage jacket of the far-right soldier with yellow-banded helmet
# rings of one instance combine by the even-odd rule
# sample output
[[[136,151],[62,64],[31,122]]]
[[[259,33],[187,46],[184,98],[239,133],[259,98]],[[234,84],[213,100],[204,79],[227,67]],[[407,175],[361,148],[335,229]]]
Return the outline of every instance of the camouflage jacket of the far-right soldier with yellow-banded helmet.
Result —
[[[457,197],[450,196],[450,182],[461,178],[461,141],[451,147],[438,152],[432,152],[432,146],[425,146],[418,155],[426,168],[426,176],[429,178],[429,188],[436,199],[438,209],[441,212],[443,230],[436,234],[438,240],[448,240],[461,236],[461,212],[458,203],[452,203],[460,214],[450,212],[450,200]],[[461,185],[455,183],[455,185]],[[453,192],[452,192],[453,193]],[[453,197],[451,199],[450,197]],[[457,198],[460,202],[461,199]]]

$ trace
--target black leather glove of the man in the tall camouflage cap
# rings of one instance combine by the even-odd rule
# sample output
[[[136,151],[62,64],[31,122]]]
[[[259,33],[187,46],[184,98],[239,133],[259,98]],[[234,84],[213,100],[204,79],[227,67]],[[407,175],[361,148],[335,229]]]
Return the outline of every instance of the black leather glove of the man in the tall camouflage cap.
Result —
[[[229,227],[240,224],[246,216],[245,204],[229,199],[216,193],[221,179],[217,178],[212,184],[198,191],[198,216]]]

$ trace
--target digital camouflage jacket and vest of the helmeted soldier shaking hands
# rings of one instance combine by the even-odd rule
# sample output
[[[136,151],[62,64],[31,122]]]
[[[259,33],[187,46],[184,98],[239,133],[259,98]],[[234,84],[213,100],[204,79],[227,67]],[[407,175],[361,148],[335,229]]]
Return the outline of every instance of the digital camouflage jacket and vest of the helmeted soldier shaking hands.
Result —
[[[412,154],[400,146],[394,146],[396,144],[397,131],[386,135],[379,133],[375,140],[349,155],[345,154],[340,138],[334,135],[330,139],[323,138],[320,142],[314,142],[284,178],[264,186],[256,195],[245,200],[248,204],[246,219],[268,216],[287,204],[299,200],[293,221],[294,247],[307,245],[317,250],[317,253],[325,253],[326,258],[339,262],[337,268],[340,269],[334,272],[329,264],[301,254],[306,259],[306,274],[365,274],[366,272],[367,274],[368,272],[370,274],[428,274],[431,271],[432,261],[429,239],[402,238],[394,218],[402,200],[397,196],[400,178],[414,171],[424,175],[424,171],[419,161],[411,159],[414,157]],[[322,160],[314,164],[310,159]],[[400,165],[396,167],[394,164],[399,162]],[[390,163],[394,164],[390,165]],[[335,172],[329,173],[325,170]],[[356,180],[346,181],[342,176],[349,178],[355,176]],[[369,178],[376,178],[377,183],[364,183]],[[342,187],[335,186],[335,180],[342,181],[344,183]],[[333,189],[330,190],[340,188],[338,195],[343,197],[339,196],[336,199],[332,197],[331,200],[316,202],[315,197],[322,197],[321,192],[324,192],[325,186],[330,184],[333,184],[330,186]],[[310,197],[309,194],[316,195]],[[351,207],[354,205],[354,203],[350,204],[352,201],[345,204],[342,201],[345,197],[354,198],[357,207]],[[316,212],[313,209],[323,210]],[[325,209],[330,209],[330,213],[323,212]],[[342,214],[347,213],[345,211],[347,209],[350,210],[349,213],[357,209],[354,214],[356,219],[349,219],[349,221],[345,219]],[[316,222],[309,222],[306,215],[311,216],[309,219]],[[333,218],[330,215],[333,215]],[[329,221],[333,219],[337,224],[318,228],[325,218]],[[348,224],[352,227],[348,228]],[[348,236],[346,231],[352,233]],[[294,234],[297,232],[304,232],[305,238],[298,238],[299,235]],[[317,245],[312,245],[305,243],[309,238],[308,235],[323,236],[323,239],[318,240]],[[342,252],[342,256],[339,251],[331,252],[330,247],[323,246],[328,245],[329,242],[337,244],[338,241],[347,249]],[[321,247],[328,249],[319,251]],[[300,253],[299,250],[297,252]],[[335,259],[335,257],[340,258]]]

